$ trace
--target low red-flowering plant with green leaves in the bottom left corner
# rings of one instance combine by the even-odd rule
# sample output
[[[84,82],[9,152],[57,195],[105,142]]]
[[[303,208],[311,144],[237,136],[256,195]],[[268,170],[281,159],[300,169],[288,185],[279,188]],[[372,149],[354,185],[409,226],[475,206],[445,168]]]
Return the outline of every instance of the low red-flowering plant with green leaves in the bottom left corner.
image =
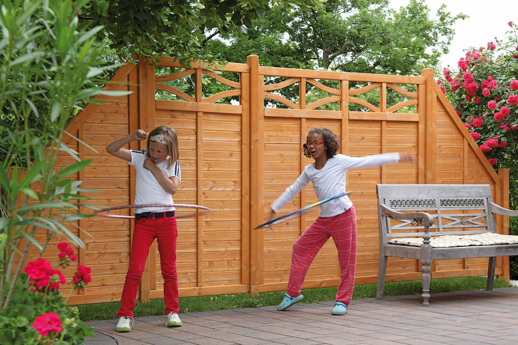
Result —
[[[74,249],[67,243],[57,245],[61,250],[59,266],[75,261]],[[65,256],[61,253],[65,252]],[[38,258],[27,264],[12,295],[11,307],[0,310],[0,339],[8,344],[80,344],[93,337],[93,328],[79,319],[77,307],[66,306],[74,290],[84,289],[92,280],[90,267],[79,265],[65,299],[59,293],[65,278],[47,260]]]

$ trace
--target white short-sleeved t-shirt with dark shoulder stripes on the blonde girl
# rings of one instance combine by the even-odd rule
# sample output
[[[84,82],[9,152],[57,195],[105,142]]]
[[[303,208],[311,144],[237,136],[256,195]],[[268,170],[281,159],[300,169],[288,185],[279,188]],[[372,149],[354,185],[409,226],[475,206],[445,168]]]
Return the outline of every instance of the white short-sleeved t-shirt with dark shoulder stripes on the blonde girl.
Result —
[[[134,166],[137,170],[137,177],[135,182],[135,205],[141,204],[172,204],[172,195],[165,191],[165,189],[156,181],[153,173],[144,168],[144,161],[148,157],[146,156],[146,150],[136,151],[131,150],[131,162],[128,162],[131,166]],[[180,163],[178,160],[174,162],[171,168],[167,169],[169,164],[169,158],[156,164],[156,166],[162,170],[164,175],[168,178],[171,176],[178,177],[181,181]],[[140,207],[134,208],[135,213],[142,212],[166,212],[175,211],[175,207]]]

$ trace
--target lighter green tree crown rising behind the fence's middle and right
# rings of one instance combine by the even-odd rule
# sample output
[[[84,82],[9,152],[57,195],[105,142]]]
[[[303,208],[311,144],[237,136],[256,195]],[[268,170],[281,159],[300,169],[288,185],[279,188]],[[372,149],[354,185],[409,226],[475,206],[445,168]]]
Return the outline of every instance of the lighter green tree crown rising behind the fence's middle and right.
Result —
[[[319,8],[272,9],[247,33],[234,29],[207,44],[232,62],[257,54],[266,66],[415,74],[448,51],[452,25],[464,17],[441,6],[430,19],[422,0],[399,10],[388,0],[329,0]]]

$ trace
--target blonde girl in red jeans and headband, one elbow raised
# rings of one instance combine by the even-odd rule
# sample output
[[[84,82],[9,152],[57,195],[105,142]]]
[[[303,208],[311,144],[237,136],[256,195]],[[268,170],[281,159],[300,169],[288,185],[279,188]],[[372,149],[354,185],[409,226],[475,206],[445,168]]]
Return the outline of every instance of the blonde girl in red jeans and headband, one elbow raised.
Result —
[[[134,140],[147,141],[142,151],[122,148]],[[127,160],[137,172],[135,204],[172,204],[172,195],[181,181],[178,162],[178,138],[174,129],[160,126],[148,133],[137,129],[133,134],[118,139],[106,151]],[[144,271],[149,247],[156,238],[160,252],[160,266],[164,278],[165,313],[169,327],[182,325],[178,317],[178,276],[176,272],[176,217],[174,207],[135,208],[135,228],[130,254],[130,266],[124,281],[121,308],[117,313],[117,332],[130,332],[138,284]]]

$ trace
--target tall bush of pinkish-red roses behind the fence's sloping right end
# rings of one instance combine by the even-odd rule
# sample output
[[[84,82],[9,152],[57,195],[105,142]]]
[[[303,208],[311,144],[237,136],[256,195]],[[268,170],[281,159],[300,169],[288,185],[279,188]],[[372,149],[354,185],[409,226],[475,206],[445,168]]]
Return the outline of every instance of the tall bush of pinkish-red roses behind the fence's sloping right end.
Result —
[[[444,69],[438,82],[495,169],[510,169],[510,207],[518,206],[518,28]],[[445,85],[445,86],[444,86]],[[514,192],[513,192],[514,191]]]

